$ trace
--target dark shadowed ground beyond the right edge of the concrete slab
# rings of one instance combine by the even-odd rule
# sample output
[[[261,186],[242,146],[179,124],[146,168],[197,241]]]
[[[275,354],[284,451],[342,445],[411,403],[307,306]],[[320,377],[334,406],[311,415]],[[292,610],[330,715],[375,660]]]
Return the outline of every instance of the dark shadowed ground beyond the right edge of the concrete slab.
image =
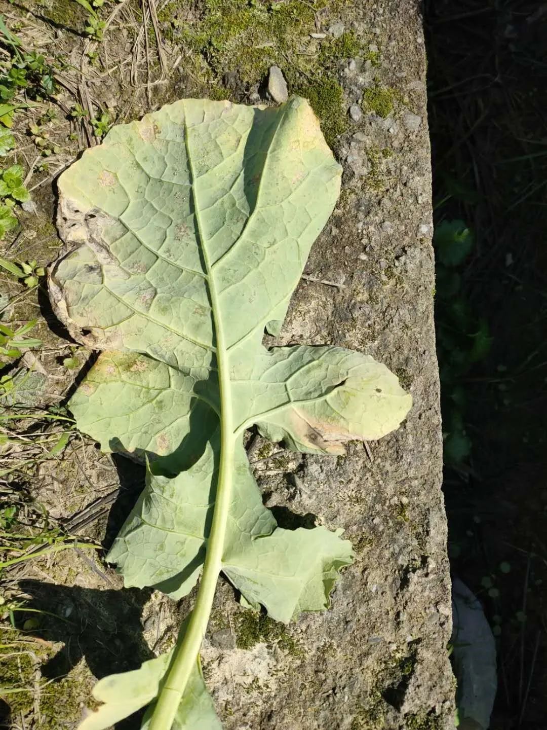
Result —
[[[543,729],[547,710],[546,11],[444,0],[426,13],[435,223],[473,229],[462,294],[493,337],[458,383],[442,377],[458,353],[440,351],[445,431],[457,392],[471,444],[445,469],[449,548],[497,627],[504,730]]]

